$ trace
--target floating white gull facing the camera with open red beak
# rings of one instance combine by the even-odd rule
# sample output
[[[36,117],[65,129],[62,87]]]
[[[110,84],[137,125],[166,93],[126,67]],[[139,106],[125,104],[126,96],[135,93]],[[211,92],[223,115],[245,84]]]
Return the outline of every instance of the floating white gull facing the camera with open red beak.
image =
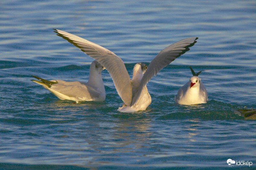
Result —
[[[198,75],[202,72],[195,71],[189,67],[193,77],[191,77],[185,85],[180,87],[178,94],[174,97],[176,103],[181,105],[195,105],[206,103],[208,100],[207,91]]]

